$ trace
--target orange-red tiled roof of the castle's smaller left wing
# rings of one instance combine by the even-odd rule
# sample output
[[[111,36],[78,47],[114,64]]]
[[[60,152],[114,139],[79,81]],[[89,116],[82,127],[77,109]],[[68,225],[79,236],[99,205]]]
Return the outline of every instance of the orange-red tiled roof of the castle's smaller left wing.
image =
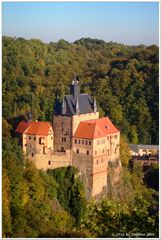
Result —
[[[25,124],[28,126],[23,128]],[[16,128],[16,132],[25,133],[28,135],[43,135],[47,136],[49,134],[49,129],[52,128],[48,122],[20,122]]]

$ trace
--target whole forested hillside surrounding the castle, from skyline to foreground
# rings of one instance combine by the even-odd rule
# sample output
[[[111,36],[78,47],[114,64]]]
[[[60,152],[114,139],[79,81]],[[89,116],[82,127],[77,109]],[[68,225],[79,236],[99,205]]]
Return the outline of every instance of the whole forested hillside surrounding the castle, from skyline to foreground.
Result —
[[[158,167],[145,176],[137,164],[129,171],[126,143],[158,144],[158,47],[11,37],[2,47],[3,237],[158,237]],[[74,77],[122,133],[120,181],[111,185],[111,168],[100,201],[87,201],[74,167],[37,170],[15,136],[29,112],[52,121],[56,97],[69,93]]]

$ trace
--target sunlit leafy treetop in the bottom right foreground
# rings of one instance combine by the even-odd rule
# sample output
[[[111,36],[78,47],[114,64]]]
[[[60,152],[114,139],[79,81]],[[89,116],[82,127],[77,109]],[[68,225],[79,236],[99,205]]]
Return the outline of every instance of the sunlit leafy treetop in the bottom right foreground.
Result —
[[[129,204],[104,198],[101,202],[89,204],[85,226],[94,237],[134,237],[137,234],[138,237],[141,234],[147,237],[149,231],[153,237],[158,237],[158,216],[151,216],[148,207],[140,196]]]

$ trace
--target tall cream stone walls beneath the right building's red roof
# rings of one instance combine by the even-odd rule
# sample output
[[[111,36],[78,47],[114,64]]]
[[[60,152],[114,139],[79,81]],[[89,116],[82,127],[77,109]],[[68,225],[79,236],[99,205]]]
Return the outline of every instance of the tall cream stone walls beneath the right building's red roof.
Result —
[[[75,140],[77,140],[76,143]],[[81,172],[82,179],[84,177],[87,196],[99,195],[107,187],[108,163],[118,164],[114,171],[114,179],[116,180],[116,172],[120,168],[119,141],[119,133],[94,140],[73,139],[73,164]]]

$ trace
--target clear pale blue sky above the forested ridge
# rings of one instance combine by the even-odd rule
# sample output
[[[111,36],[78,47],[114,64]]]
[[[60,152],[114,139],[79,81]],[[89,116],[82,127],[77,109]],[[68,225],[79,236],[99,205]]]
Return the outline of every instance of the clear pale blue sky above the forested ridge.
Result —
[[[159,45],[159,3],[3,2],[2,34],[46,43],[89,37]]]

